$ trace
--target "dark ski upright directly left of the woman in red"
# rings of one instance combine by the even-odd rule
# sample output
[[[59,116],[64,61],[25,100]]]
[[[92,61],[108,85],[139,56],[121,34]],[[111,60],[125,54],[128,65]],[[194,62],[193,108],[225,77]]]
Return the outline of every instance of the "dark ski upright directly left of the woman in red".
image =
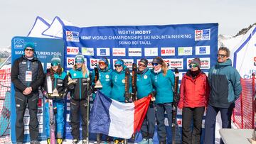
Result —
[[[177,104],[179,100],[178,96],[178,69],[174,69],[174,101],[173,101],[173,110],[172,110],[172,123],[171,123],[171,135],[172,135],[172,143],[175,144],[175,136],[176,136],[176,113],[177,113]]]

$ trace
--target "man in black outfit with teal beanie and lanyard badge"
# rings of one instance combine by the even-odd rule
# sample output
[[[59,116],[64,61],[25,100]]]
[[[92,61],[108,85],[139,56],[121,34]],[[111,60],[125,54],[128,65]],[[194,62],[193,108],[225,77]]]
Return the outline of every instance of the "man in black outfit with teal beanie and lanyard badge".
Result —
[[[21,144],[24,138],[23,117],[28,105],[30,115],[29,133],[31,144],[39,143],[38,138],[38,87],[43,84],[43,67],[34,57],[35,46],[27,43],[24,48],[25,55],[14,61],[11,67],[11,82],[15,88],[16,102],[16,143]]]

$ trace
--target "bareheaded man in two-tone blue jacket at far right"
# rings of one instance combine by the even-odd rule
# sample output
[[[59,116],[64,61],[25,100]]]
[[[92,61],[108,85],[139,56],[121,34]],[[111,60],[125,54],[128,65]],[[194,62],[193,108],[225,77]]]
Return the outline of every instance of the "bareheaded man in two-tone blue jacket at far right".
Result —
[[[218,62],[210,68],[208,80],[210,96],[206,112],[206,134],[204,143],[213,144],[215,141],[215,120],[220,111],[222,128],[231,128],[231,115],[237,100],[242,92],[240,74],[229,59],[230,50],[220,47]],[[223,140],[220,139],[220,144]]]

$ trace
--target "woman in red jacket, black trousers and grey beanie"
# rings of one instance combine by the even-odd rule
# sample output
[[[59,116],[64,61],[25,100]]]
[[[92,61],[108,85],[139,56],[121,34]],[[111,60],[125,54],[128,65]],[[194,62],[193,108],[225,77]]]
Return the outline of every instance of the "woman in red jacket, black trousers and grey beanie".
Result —
[[[178,108],[182,109],[183,144],[200,144],[201,141],[202,119],[208,102],[210,87],[208,78],[200,70],[200,66],[200,59],[194,58],[189,64],[190,70],[184,74],[181,80],[181,99]],[[192,122],[193,129],[191,129]]]

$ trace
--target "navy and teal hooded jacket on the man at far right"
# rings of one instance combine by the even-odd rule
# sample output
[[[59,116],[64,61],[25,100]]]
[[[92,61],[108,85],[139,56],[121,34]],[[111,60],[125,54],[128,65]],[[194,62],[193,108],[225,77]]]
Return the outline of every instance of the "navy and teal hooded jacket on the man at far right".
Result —
[[[209,104],[211,106],[228,108],[242,92],[240,74],[228,59],[210,68],[208,79],[210,84]]]

